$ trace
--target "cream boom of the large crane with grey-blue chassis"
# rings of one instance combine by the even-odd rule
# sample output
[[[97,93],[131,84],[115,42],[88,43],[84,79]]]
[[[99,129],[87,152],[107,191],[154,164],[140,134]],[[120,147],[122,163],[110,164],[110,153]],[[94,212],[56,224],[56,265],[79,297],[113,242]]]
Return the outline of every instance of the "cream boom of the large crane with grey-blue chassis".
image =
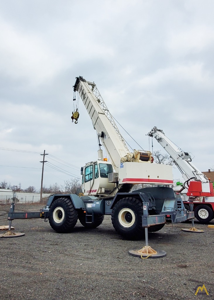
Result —
[[[96,85],[80,76],[76,78],[74,91],[78,91],[94,129],[97,134],[100,133],[103,146],[111,159],[114,170],[118,172],[121,158],[130,152]]]

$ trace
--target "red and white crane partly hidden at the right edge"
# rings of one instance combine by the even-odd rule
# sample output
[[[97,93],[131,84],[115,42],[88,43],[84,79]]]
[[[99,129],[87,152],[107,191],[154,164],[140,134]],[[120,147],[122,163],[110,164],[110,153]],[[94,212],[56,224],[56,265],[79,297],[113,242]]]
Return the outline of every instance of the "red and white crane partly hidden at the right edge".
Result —
[[[181,192],[185,207],[189,209],[189,204],[192,203],[195,217],[201,222],[210,222],[214,218],[213,183],[194,166],[191,155],[179,149],[162,130],[154,127],[148,136],[158,141],[182,173],[185,182],[174,187],[174,191]]]

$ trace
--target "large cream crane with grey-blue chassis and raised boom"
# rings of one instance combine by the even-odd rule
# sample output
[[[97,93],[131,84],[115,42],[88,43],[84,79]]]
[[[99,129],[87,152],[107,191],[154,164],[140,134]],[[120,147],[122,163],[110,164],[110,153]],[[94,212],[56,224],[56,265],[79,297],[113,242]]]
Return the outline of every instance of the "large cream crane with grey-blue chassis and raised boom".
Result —
[[[102,143],[111,161],[106,161],[99,149],[98,160],[81,168],[84,196],[52,195],[40,210],[40,216],[28,213],[25,218],[48,218],[51,227],[63,233],[71,232],[78,219],[83,226],[95,228],[107,214],[111,215],[114,229],[130,239],[144,235],[144,227],[154,232],[165,223],[193,218],[194,212],[186,211],[182,199],[175,197],[172,188],[150,187],[130,192],[133,184],[138,183],[172,184],[172,167],[153,164],[149,151],[129,152],[94,82],[79,76],[73,88],[87,109],[99,137],[99,146]],[[75,119],[77,123],[78,117],[79,113],[73,112],[72,121]],[[23,215],[14,213],[12,207],[8,220],[19,218],[19,214],[22,218]]]

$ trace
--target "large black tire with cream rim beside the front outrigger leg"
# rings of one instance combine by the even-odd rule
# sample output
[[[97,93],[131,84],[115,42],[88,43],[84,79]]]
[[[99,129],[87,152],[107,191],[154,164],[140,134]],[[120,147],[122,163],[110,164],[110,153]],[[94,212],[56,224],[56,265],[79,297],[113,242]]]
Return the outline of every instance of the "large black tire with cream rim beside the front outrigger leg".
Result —
[[[145,235],[142,227],[143,204],[139,199],[126,197],[120,199],[111,212],[114,229],[128,239],[138,239]]]

